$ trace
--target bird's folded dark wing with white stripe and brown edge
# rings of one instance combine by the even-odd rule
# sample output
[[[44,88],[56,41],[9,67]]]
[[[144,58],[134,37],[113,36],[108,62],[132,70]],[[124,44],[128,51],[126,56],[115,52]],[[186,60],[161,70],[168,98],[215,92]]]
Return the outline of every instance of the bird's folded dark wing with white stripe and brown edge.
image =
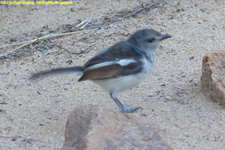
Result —
[[[124,41],[125,42],[125,41]],[[90,59],[84,65],[79,81],[101,80],[131,75],[140,72],[142,54],[126,42],[120,42],[107,51]]]

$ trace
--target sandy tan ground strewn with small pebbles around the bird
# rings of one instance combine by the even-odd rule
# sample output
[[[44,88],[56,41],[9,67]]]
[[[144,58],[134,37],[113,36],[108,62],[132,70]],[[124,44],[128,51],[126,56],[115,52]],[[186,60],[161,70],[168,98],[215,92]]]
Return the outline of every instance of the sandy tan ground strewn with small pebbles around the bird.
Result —
[[[86,104],[118,109],[92,82],[68,74],[30,81],[34,72],[83,65],[99,50],[143,28],[173,37],[157,50],[153,73],[139,86],[119,95],[125,106],[141,106],[167,132],[174,150],[225,150],[225,109],[201,93],[202,57],[224,50],[224,0],[170,0],[125,16],[151,1],[73,1],[72,5],[0,5],[0,46],[28,42],[45,34],[77,34],[15,48],[0,49],[0,150],[53,150],[64,141],[67,117]],[[102,24],[101,24],[102,23]],[[91,28],[91,24],[98,27]],[[9,53],[9,55],[4,55]],[[6,56],[3,58],[2,55]],[[16,57],[19,55],[19,57]]]

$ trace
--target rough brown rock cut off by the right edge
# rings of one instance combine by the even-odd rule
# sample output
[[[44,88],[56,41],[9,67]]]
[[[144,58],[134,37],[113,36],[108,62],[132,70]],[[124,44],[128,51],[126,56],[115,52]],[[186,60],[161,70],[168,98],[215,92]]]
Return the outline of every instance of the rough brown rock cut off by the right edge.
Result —
[[[203,57],[202,91],[225,105],[225,51],[209,52]]]

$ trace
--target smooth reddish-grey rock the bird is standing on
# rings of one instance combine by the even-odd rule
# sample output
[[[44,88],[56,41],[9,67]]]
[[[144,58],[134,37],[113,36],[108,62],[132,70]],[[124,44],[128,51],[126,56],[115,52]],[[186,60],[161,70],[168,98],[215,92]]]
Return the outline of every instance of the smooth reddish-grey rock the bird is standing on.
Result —
[[[172,150],[163,136],[144,115],[84,106],[70,114],[62,150]]]

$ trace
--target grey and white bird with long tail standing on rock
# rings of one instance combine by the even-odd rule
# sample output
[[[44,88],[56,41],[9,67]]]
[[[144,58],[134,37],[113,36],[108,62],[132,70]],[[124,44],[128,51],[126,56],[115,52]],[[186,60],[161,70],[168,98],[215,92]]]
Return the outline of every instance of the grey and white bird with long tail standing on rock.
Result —
[[[148,77],[154,68],[157,45],[170,37],[152,29],[143,29],[126,41],[120,41],[101,51],[84,66],[47,70],[33,74],[31,79],[55,73],[81,72],[82,76],[78,81],[93,81],[110,94],[122,112],[134,112],[141,107],[126,108],[116,96]]]

